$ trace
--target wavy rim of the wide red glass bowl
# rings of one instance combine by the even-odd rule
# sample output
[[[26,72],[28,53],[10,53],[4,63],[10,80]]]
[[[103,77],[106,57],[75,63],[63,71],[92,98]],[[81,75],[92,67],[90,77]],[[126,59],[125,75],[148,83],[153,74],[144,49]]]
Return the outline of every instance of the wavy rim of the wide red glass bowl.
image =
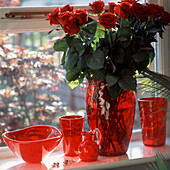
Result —
[[[40,140],[35,140],[35,141],[34,141],[34,140],[33,140],[33,141],[29,141],[29,140],[19,141],[19,140],[11,139],[11,138],[9,138],[9,137],[6,136],[6,134],[8,134],[8,133],[23,131],[23,130],[30,129],[30,128],[38,128],[38,127],[50,127],[50,128],[52,128],[52,129],[57,130],[60,135],[59,135],[59,136],[56,136],[56,137],[52,137],[52,138],[40,139]],[[37,143],[37,142],[45,142],[45,141],[47,141],[47,140],[49,141],[49,140],[60,139],[60,138],[62,139],[62,133],[60,132],[59,129],[57,129],[57,128],[54,127],[54,126],[50,126],[50,125],[35,125],[35,126],[25,127],[25,128],[23,128],[23,129],[18,129],[18,130],[13,130],[13,131],[4,132],[4,133],[2,134],[2,137],[3,137],[4,139],[8,139],[8,140],[13,141],[13,142],[15,142],[15,143]]]

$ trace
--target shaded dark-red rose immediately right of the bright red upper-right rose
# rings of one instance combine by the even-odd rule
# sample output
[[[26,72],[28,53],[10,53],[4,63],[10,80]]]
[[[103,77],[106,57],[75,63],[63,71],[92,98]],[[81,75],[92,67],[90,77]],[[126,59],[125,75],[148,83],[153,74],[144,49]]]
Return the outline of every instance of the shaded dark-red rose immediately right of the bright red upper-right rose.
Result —
[[[148,19],[148,7],[139,3],[133,3],[131,7],[131,13],[138,17],[141,21],[147,21]]]

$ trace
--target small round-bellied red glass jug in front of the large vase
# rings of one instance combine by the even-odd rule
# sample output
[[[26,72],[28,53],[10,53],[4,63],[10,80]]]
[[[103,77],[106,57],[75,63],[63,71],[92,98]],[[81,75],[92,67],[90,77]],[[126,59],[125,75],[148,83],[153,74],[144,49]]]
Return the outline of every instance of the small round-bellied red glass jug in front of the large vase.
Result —
[[[99,154],[99,146],[97,142],[94,141],[96,136],[95,132],[84,131],[82,135],[84,136],[84,141],[81,142],[79,146],[80,159],[84,162],[96,161]]]

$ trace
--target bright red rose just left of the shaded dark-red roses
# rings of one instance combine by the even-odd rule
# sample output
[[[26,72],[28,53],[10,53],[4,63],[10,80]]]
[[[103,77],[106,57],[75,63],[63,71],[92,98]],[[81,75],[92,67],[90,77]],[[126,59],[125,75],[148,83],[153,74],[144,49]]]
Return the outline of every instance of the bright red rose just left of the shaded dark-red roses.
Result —
[[[131,5],[129,2],[122,2],[120,5],[116,5],[115,13],[120,18],[128,18],[130,15]]]

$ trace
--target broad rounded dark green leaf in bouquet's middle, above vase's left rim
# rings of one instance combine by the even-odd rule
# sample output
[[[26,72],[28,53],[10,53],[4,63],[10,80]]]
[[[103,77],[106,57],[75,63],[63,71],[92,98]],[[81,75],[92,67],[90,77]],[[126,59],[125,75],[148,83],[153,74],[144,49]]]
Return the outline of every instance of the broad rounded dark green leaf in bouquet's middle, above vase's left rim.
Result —
[[[105,54],[102,50],[97,49],[87,60],[87,66],[91,69],[100,69],[104,66]]]

